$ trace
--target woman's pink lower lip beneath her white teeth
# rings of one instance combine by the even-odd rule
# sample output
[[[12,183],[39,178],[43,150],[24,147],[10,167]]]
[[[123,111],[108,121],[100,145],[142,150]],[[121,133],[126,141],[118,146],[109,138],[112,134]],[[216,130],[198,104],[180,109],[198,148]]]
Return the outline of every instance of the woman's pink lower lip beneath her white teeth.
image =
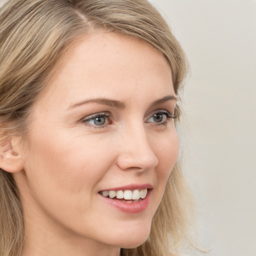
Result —
[[[150,201],[151,189],[147,190],[146,197],[138,202],[123,202],[100,195],[107,203],[125,213],[139,213],[146,209]]]

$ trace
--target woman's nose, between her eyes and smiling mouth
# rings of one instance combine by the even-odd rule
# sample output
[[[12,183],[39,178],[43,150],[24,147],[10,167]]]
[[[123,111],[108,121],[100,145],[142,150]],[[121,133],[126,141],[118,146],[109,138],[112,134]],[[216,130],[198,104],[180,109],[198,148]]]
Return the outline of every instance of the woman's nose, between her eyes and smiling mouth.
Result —
[[[143,126],[127,128],[120,136],[118,151],[117,165],[123,170],[136,169],[142,172],[158,164]]]

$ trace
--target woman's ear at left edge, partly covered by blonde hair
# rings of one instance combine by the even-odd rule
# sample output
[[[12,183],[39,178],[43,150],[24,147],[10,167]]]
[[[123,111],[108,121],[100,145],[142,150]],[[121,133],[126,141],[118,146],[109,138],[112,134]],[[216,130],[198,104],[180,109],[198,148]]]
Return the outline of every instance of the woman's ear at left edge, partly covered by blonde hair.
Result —
[[[0,144],[0,168],[7,172],[18,172],[23,169],[20,153],[20,137],[10,136]]]

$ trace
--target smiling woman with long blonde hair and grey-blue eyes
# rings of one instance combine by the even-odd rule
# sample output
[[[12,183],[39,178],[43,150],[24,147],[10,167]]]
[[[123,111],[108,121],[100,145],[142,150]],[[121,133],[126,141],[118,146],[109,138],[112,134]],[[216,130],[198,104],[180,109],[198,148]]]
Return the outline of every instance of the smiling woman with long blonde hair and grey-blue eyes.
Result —
[[[0,255],[174,255],[186,58],[146,0],[0,12]],[[175,254],[176,255],[176,254]]]

